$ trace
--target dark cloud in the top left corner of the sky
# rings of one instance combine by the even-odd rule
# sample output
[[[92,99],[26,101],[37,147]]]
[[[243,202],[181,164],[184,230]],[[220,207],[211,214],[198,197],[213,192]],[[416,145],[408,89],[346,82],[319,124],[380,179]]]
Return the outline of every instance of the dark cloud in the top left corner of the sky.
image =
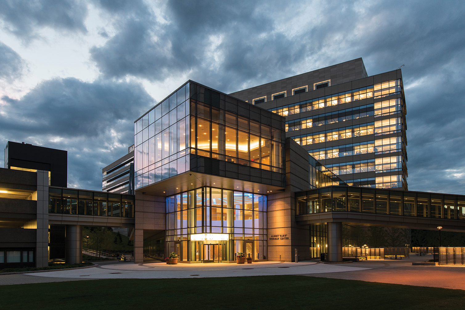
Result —
[[[80,0],[0,0],[4,26],[25,40],[36,37],[43,27],[86,33],[86,15],[86,3]]]

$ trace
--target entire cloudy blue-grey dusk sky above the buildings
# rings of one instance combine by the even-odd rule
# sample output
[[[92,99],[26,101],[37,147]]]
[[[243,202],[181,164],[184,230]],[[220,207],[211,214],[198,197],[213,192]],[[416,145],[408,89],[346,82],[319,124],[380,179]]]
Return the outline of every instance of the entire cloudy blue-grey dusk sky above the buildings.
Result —
[[[464,1],[0,0],[0,145],[67,150],[68,186],[101,190],[186,80],[230,93],[359,57],[405,64],[409,190],[465,194]]]

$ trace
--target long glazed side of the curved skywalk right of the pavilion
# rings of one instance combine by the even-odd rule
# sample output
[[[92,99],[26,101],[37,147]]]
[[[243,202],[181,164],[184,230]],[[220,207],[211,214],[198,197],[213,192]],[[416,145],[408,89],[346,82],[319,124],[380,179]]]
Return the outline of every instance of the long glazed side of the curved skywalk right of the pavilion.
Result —
[[[330,211],[465,220],[465,196],[340,186],[296,193],[296,215]]]

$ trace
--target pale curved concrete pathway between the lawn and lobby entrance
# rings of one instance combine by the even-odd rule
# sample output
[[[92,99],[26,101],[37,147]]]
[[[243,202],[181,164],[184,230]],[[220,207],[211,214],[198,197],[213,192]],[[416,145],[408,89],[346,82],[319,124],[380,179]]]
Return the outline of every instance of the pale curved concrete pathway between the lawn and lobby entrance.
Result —
[[[344,271],[359,271],[360,268],[315,262],[276,263],[261,262],[254,264],[105,264],[102,266],[41,273],[29,273],[34,277],[80,278],[80,279],[160,279],[192,277],[246,277],[273,275],[319,274]]]

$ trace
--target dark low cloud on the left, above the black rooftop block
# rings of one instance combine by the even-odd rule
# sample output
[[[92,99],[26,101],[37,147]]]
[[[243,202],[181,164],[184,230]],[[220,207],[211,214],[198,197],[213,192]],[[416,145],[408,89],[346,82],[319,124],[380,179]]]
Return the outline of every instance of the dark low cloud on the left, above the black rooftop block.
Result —
[[[153,99],[138,84],[78,79],[41,83],[2,98],[0,139],[68,151],[68,185],[101,190],[101,170],[133,144],[133,121]],[[100,181],[99,181],[100,180]]]

